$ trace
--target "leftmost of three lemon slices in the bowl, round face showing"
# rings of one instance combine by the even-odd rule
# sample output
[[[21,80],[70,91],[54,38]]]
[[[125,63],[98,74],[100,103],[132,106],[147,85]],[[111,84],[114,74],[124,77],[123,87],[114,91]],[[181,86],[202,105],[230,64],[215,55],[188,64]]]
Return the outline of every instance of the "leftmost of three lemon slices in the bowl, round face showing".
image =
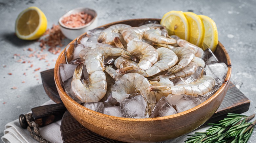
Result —
[[[188,21],[182,11],[165,13],[160,24],[166,27],[169,35],[177,35],[181,39],[189,40]]]

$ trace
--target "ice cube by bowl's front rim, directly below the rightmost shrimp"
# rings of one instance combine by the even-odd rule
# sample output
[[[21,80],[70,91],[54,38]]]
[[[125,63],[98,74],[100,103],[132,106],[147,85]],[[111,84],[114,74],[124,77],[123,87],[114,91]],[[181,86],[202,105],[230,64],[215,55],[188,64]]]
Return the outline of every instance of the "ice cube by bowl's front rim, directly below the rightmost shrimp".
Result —
[[[184,97],[176,104],[176,109],[178,113],[181,113],[199,104],[201,104],[201,102],[197,97],[184,95]]]

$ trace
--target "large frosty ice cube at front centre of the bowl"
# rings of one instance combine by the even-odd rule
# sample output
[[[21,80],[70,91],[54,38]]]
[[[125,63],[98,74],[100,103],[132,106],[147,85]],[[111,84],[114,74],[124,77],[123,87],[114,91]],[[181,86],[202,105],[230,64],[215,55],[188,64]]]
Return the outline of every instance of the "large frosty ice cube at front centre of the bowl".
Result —
[[[130,95],[121,102],[121,114],[131,118],[148,118],[146,108],[147,102],[141,94]]]

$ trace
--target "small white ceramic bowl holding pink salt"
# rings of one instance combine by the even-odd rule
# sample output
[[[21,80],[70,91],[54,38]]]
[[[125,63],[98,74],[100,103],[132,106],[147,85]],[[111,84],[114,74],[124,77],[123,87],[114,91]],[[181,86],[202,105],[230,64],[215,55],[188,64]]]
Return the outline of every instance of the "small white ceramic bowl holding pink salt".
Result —
[[[68,27],[61,22],[64,17],[69,16],[71,14],[78,13],[78,12],[82,12],[82,11],[93,16],[92,21],[90,21],[86,25],[83,25],[80,27]],[[98,24],[97,13],[95,10],[90,9],[90,8],[72,9],[72,10],[68,11],[67,13],[65,13],[63,16],[61,16],[59,19],[59,25],[60,25],[61,32],[64,34],[65,37],[67,37],[70,40],[74,40],[76,37],[80,36],[81,34],[85,33],[86,31],[96,28],[97,24]]]

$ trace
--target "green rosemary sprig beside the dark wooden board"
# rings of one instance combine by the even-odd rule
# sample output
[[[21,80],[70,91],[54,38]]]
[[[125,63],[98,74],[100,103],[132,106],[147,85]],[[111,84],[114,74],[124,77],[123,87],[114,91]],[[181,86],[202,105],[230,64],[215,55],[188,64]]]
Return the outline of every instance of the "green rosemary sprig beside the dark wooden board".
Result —
[[[185,140],[185,143],[246,143],[253,133],[256,120],[255,114],[245,116],[240,114],[228,113],[226,118],[212,125],[205,132],[196,132]]]

